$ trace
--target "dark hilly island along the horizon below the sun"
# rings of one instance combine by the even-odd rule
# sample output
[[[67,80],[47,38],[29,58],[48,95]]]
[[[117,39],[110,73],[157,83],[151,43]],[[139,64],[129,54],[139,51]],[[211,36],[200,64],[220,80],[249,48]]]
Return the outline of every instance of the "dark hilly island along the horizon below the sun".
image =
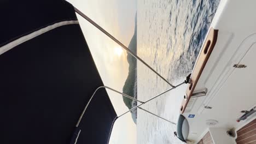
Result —
[[[133,53],[137,54],[137,13],[135,15],[135,30],[134,30],[132,39],[130,41],[130,44],[128,46],[128,49],[130,49]],[[123,87],[123,93],[128,94],[130,96],[134,96],[134,98],[137,99],[137,59],[132,55],[130,55],[130,53],[128,53],[127,62],[129,63],[129,74],[127,76],[127,79]],[[123,101],[129,109],[137,105],[137,101],[126,98],[124,96],[123,96]],[[133,122],[136,124],[137,109],[131,111],[131,115],[132,115]]]

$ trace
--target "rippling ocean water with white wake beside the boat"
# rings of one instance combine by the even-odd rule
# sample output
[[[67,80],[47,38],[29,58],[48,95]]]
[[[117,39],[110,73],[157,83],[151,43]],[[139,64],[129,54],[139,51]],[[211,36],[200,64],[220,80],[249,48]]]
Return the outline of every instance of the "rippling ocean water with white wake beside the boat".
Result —
[[[137,1],[137,53],[174,84],[191,73],[219,1]],[[170,88],[137,62],[137,97],[147,100]],[[142,107],[176,122],[186,86]],[[173,136],[176,125],[142,110],[137,112],[137,143],[182,143]]]

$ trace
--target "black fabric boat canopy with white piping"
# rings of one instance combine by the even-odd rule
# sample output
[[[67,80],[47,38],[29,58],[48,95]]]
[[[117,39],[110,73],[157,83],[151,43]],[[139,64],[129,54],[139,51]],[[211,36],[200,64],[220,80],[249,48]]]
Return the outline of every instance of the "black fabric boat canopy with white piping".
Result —
[[[103,86],[73,6],[61,0],[0,5],[0,143],[70,143],[85,105]],[[76,142],[108,143],[116,117],[100,89]]]

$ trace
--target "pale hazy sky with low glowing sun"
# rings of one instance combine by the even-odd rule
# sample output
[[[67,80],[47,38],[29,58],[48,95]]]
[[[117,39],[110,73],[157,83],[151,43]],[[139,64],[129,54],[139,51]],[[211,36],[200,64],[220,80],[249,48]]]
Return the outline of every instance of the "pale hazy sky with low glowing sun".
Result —
[[[128,46],[134,32],[136,0],[68,0],[107,32]],[[85,39],[105,86],[122,92],[128,75],[127,53],[114,41],[78,16]],[[107,91],[117,115],[127,111],[120,94]],[[110,144],[136,143],[136,125],[131,114],[120,117],[114,124]]]

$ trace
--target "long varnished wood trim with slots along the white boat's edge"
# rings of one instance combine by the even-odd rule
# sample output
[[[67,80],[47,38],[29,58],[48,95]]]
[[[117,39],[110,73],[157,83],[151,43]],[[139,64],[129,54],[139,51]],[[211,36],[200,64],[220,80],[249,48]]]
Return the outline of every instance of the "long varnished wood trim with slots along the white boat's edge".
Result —
[[[217,36],[218,36],[218,30],[217,29],[210,29],[210,32],[207,35],[207,38],[205,40],[205,44],[203,44],[203,49],[199,55],[199,58],[196,62],[195,69],[193,71],[193,74],[191,75],[190,83],[187,88],[186,94],[188,96],[187,100],[182,101],[182,106],[180,109],[181,113],[184,113],[188,102],[190,100],[191,95],[193,94],[193,91],[196,87],[197,81],[199,80],[203,69],[205,68],[205,65],[212,53],[212,50],[217,42]]]

